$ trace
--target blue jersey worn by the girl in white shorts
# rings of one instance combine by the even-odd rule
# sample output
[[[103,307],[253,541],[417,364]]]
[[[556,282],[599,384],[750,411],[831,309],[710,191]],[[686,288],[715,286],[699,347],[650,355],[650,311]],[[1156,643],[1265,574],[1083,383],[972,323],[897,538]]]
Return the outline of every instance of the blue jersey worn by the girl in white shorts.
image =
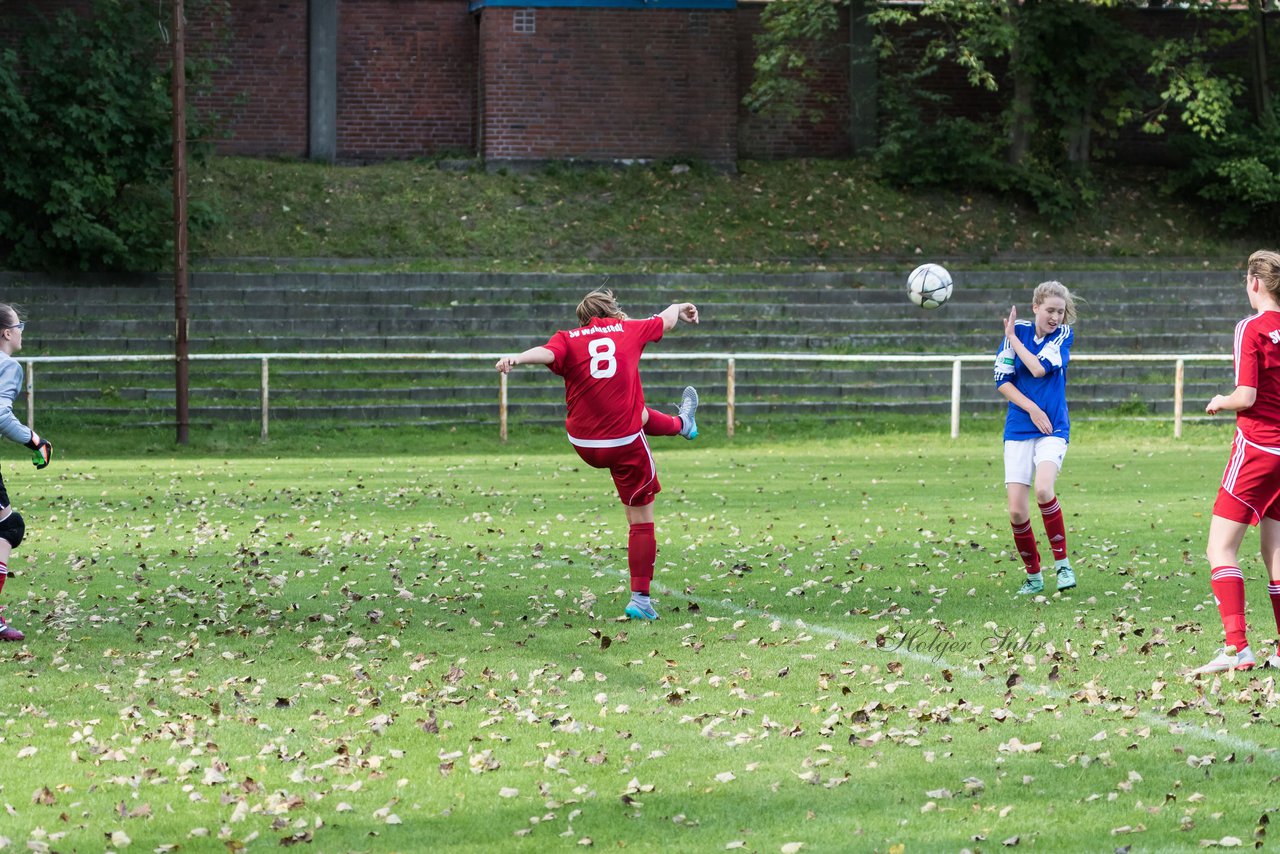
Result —
[[[1018,339],[1039,359],[1044,367],[1043,376],[1033,376],[1023,360],[1014,352],[1009,339],[1000,343],[996,353],[996,388],[1012,383],[1014,388],[1044,410],[1053,424],[1053,435],[1070,442],[1071,419],[1066,414],[1066,364],[1071,359],[1074,335],[1068,325],[1059,326],[1044,338],[1036,337],[1036,323],[1019,320],[1014,328]],[[1027,410],[1010,402],[1005,415],[1005,439],[1038,439],[1044,433],[1032,424]]]

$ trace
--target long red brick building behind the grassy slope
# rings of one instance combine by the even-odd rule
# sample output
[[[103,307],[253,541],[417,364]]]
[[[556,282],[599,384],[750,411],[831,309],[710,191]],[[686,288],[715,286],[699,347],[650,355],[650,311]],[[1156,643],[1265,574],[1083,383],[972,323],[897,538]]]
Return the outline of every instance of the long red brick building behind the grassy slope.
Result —
[[[172,0],[161,9],[169,13]],[[187,0],[192,52],[223,58],[197,106],[220,117],[227,154],[347,161],[480,156],[543,160],[851,154],[868,83],[851,72],[849,9],[818,67],[824,118],[749,113],[763,1]],[[41,0],[46,13],[88,0]],[[24,0],[0,5],[0,41]],[[1184,26],[1129,9],[1138,26]],[[163,19],[161,19],[163,23]],[[955,109],[998,106],[960,76]]]

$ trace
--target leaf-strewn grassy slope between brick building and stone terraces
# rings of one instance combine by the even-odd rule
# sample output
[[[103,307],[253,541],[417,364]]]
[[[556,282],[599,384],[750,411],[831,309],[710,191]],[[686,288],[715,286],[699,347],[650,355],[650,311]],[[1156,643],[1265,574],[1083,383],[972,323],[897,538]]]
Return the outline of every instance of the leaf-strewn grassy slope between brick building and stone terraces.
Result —
[[[748,161],[726,175],[669,164],[488,174],[422,161],[219,157],[193,173],[195,198],[220,218],[193,252],[479,270],[780,269],[916,256],[1158,268],[1234,265],[1265,242],[1225,238],[1202,211],[1164,197],[1155,177],[1105,173],[1100,186],[1096,204],[1059,228],[986,193],[904,192],[855,160]]]

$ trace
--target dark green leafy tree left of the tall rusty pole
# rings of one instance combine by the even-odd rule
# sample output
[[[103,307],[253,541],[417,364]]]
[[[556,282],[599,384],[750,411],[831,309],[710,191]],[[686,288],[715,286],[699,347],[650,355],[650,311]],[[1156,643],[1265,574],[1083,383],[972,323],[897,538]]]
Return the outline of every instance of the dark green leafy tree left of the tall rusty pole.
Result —
[[[156,6],[36,18],[0,61],[0,262],[156,269],[170,251],[172,109]]]

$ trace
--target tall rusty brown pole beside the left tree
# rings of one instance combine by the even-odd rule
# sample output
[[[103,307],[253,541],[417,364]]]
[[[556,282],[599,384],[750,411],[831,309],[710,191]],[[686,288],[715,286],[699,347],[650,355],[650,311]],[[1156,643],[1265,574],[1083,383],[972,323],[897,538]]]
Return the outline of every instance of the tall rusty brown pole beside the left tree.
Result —
[[[187,35],[182,0],[173,3],[173,312],[174,402],[178,444],[187,444],[189,426],[189,362],[187,351]]]

